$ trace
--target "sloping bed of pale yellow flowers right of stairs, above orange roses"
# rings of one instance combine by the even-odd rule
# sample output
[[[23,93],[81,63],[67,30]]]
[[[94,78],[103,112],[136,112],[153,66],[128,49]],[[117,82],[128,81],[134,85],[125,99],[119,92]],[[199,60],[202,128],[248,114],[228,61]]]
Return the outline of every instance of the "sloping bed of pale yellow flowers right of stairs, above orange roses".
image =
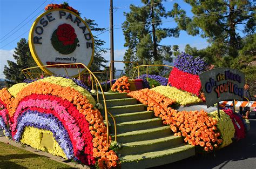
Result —
[[[196,104],[202,102],[200,98],[192,96],[191,93],[181,91],[176,87],[157,86],[150,90],[163,94],[165,97],[174,99],[175,102],[180,105]]]

